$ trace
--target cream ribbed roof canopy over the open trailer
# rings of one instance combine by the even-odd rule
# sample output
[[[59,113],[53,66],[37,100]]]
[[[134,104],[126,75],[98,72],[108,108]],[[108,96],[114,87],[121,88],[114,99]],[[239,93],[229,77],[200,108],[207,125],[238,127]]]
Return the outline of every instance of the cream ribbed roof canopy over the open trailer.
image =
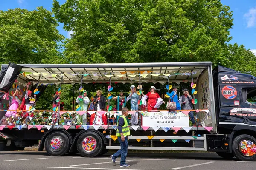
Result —
[[[115,64],[21,64],[22,82],[83,83],[97,82],[167,82],[191,80],[198,77],[211,62],[157,62],[157,63],[115,63]],[[8,65],[1,65],[1,70]]]

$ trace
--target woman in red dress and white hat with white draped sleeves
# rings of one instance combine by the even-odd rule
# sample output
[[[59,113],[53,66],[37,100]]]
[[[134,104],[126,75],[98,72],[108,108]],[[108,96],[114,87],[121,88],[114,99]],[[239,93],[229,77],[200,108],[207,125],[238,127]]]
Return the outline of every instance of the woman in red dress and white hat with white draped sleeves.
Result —
[[[144,102],[148,98],[148,111],[157,110],[157,108],[159,108],[160,105],[164,103],[163,99],[161,99],[159,94],[156,92],[156,88],[154,86],[151,86],[150,91],[146,95],[142,93],[142,96],[144,98]]]

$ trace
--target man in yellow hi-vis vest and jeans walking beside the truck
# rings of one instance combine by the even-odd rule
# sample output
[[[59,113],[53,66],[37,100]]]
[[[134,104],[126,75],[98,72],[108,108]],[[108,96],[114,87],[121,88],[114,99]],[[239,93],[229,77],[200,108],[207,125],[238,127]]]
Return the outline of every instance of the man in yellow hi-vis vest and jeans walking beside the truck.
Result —
[[[116,131],[116,136],[121,145],[121,149],[119,149],[116,153],[110,156],[113,163],[116,164],[116,158],[121,155],[120,167],[130,167],[130,165],[125,163],[128,152],[128,136],[130,135],[130,129],[126,119],[128,113],[128,108],[122,108],[122,116],[120,116],[117,121]]]

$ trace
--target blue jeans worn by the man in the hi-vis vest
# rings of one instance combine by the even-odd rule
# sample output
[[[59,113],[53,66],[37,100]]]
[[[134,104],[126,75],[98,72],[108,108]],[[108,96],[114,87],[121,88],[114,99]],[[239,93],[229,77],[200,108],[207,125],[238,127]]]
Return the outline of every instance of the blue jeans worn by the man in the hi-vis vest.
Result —
[[[118,141],[121,145],[121,149],[119,149],[112,156],[113,156],[113,159],[116,159],[117,157],[119,157],[121,155],[120,165],[124,165],[125,161],[126,161],[126,156],[127,156],[127,153],[128,153],[128,139],[125,138],[124,142],[122,142],[121,137],[118,137],[117,139],[118,139]]]

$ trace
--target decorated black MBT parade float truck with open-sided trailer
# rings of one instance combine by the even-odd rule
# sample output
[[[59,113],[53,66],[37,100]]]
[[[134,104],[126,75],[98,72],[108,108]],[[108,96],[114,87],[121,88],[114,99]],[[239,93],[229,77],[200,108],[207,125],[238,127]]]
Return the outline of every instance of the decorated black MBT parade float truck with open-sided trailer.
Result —
[[[142,89],[147,84],[155,84],[161,87],[157,92],[166,102],[171,85],[180,85],[179,95],[182,95],[183,88],[189,86],[189,94],[193,93],[193,110],[166,110],[166,104],[162,104],[165,109],[145,111],[140,105],[138,111],[129,111],[131,115],[138,114],[138,123],[130,126],[128,149],[209,151],[225,159],[236,156],[241,161],[256,160],[256,105],[253,103],[256,77],[221,66],[212,70],[211,62],[9,63],[1,65],[0,82],[0,118],[5,115],[15,88],[20,88],[24,96],[28,83],[29,89],[37,94],[38,101],[49,85],[61,90],[61,84],[78,83],[84,89],[102,84],[106,87],[104,92],[112,95],[113,91],[119,91],[115,89],[118,83],[135,84],[136,87],[141,84]],[[14,115],[12,122],[7,119],[8,124],[0,125],[0,150],[23,150],[38,144],[38,140],[38,151],[45,148],[50,156],[79,152],[82,156],[94,157],[119,149],[117,126],[111,120],[116,119],[121,111],[113,111],[108,103],[106,108],[105,111],[97,111],[107,116],[106,125],[77,123],[78,115],[90,117],[96,111],[74,108],[72,111],[58,108],[45,111],[36,106],[29,111],[17,110],[14,112],[17,117]],[[194,112],[196,126],[189,125],[190,111]],[[24,112],[29,113],[25,123]]]

